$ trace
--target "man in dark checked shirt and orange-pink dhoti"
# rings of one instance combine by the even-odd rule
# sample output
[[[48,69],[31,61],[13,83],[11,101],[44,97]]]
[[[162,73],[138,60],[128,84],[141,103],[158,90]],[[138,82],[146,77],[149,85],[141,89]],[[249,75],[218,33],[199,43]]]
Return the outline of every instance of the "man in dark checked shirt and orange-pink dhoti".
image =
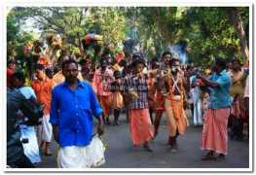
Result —
[[[154,136],[154,128],[149,117],[148,87],[142,74],[144,62],[140,59],[132,62],[134,74],[125,82],[125,91],[130,96],[128,102],[129,130],[134,146],[143,145],[148,151],[152,152],[148,142]]]

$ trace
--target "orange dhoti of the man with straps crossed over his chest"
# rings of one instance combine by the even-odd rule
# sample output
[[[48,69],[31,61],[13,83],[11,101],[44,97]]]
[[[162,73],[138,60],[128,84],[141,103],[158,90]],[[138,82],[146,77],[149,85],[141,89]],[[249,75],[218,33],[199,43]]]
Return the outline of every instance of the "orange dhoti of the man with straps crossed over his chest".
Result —
[[[183,100],[165,98],[166,121],[171,137],[177,134],[183,135],[188,125],[188,120],[183,108]]]

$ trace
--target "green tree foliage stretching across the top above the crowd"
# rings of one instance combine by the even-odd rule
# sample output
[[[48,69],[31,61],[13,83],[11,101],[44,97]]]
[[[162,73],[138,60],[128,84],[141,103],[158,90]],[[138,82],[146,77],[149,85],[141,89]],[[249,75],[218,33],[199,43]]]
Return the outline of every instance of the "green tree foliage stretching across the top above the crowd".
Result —
[[[232,10],[244,35],[234,25]],[[31,39],[28,33],[26,38],[20,35],[27,19],[43,33],[54,31],[80,48],[81,39],[91,31],[114,49],[127,37],[133,38],[149,58],[186,43],[191,61],[198,65],[209,64],[216,54],[245,58],[249,38],[248,7],[17,7],[7,18],[8,42]]]

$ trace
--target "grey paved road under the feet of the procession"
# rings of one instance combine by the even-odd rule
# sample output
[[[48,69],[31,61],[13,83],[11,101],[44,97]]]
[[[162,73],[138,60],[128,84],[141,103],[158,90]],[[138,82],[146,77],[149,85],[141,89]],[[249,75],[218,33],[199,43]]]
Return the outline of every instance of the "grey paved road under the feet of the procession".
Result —
[[[221,162],[201,161],[204,152],[200,150],[201,127],[189,126],[184,136],[178,138],[179,150],[170,153],[166,145],[167,131],[165,116],[159,135],[151,142],[153,153],[142,148],[132,148],[125,115],[121,116],[121,125],[107,125],[104,139],[109,148],[106,150],[104,168],[248,168],[248,141],[229,140],[228,157]],[[53,152],[56,145],[53,145]],[[56,167],[55,156],[43,157],[38,167]]]

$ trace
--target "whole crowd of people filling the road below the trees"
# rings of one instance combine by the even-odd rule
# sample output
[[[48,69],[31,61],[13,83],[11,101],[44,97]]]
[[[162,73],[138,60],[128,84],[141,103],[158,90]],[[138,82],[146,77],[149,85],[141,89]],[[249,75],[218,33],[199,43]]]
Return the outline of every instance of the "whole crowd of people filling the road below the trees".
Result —
[[[152,59],[133,53],[121,60],[101,54],[96,66],[88,54],[78,59],[63,52],[55,63],[47,56],[42,51],[34,64],[28,62],[28,74],[16,70],[16,60],[8,61],[8,90],[19,90],[26,98],[33,96],[44,105],[41,124],[18,125],[20,138],[28,138],[29,142],[22,143],[25,157],[10,157],[9,165],[33,167],[41,161],[39,150],[52,156],[52,137],[60,147],[59,167],[81,164],[69,161],[87,157],[93,117],[101,135],[104,124],[122,124],[123,113],[132,145],[142,146],[147,152],[154,151],[151,140],[160,134],[164,114],[171,153],[178,151],[178,137],[185,134],[190,123],[202,126],[201,150],[208,151],[202,157],[205,160],[225,158],[228,134],[239,140],[248,137],[248,64],[241,64],[236,57],[232,64],[216,57],[214,65],[206,69],[181,65],[170,52]],[[20,113],[18,107],[16,111]],[[11,118],[9,114],[7,118]]]

